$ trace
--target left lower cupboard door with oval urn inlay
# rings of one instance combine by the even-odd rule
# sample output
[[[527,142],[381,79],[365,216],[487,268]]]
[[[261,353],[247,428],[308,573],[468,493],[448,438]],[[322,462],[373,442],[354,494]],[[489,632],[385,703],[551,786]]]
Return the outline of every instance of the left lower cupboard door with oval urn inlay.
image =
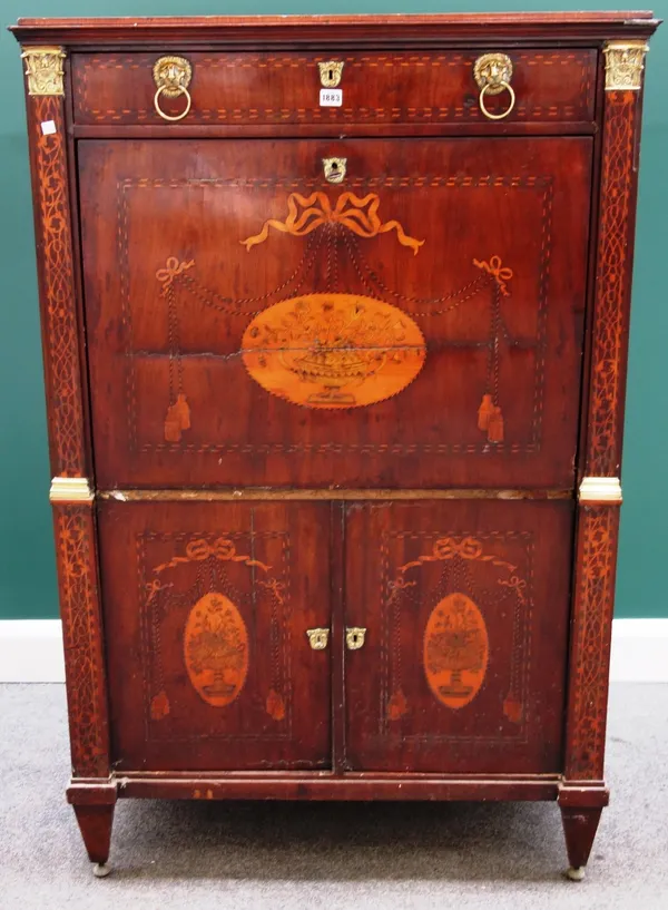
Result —
[[[118,770],[331,765],[328,505],[102,502]]]

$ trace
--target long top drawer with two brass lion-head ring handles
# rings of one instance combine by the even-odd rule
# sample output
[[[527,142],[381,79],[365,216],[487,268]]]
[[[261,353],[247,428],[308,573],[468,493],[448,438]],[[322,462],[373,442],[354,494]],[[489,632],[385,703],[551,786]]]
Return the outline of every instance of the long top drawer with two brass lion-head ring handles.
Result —
[[[191,67],[191,107],[174,125],[188,124],[481,124],[475,61],[490,50],[411,53],[177,52]],[[77,53],[72,58],[78,124],[160,124],[154,66],[160,53]],[[593,119],[596,50],[521,50],[508,53],[515,95],[503,121],[563,123]],[[338,107],[321,106],[318,63],[343,62]],[[328,71],[325,72],[327,81]],[[186,109],[186,96],[159,105],[168,117]],[[491,115],[509,107],[507,90],[488,91]]]

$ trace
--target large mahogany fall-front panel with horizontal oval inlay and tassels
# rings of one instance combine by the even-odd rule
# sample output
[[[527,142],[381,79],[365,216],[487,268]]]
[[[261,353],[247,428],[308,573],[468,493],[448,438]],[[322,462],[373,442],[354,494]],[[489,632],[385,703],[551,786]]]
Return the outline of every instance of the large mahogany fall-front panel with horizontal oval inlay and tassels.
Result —
[[[571,486],[591,145],[81,141],[98,485]]]

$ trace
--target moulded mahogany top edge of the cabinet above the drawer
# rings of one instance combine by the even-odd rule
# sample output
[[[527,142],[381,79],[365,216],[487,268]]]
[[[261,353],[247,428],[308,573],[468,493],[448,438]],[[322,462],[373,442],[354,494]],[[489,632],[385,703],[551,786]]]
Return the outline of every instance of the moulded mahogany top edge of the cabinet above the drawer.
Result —
[[[76,46],[313,40],[379,43],[648,38],[660,25],[648,10],[601,12],[435,13],[429,16],[173,16],[21,18],[9,30],[21,42]],[[480,28],[485,28],[480,41]]]

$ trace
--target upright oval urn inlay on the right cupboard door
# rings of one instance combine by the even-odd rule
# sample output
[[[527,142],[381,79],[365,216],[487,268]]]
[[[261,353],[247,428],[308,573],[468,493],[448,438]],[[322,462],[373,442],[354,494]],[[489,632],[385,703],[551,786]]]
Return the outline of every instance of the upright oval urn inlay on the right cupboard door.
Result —
[[[481,611],[465,594],[449,594],[431,611],[424,630],[424,673],[448,707],[468,705],[487,671],[489,638]]]

